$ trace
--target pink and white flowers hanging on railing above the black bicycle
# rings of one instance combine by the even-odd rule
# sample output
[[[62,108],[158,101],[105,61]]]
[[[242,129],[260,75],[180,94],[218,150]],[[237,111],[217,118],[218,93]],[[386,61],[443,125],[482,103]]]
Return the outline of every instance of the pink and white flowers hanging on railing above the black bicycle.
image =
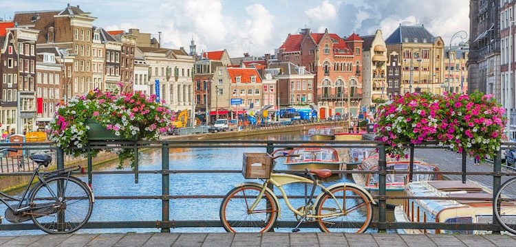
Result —
[[[89,126],[85,122],[90,118],[123,139],[156,140],[160,133],[168,130],[173,120],[171,110],[162,103],[155,102],[155,95],[147,97],[141,92],[118,94],[96,89],[58,106],[50,122],[49,137],[58,147],[63,148],[65,154],[84,156],[89,142]],[[96,156],[99,151],[90,150],[92,156]],[[118,157],[119,167],[127,159],[133,165],[132,149],[118,151]]]

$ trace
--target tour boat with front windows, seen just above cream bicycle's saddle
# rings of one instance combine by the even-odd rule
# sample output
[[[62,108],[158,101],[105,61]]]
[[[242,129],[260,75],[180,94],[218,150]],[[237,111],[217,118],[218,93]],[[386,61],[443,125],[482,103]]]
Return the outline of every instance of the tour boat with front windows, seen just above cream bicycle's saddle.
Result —
[[[338,158],[338,153],[334,148],[294,148],[290,150],[286,158],[287,169],[331,169],[339,170],[342,168],[342,161]]]

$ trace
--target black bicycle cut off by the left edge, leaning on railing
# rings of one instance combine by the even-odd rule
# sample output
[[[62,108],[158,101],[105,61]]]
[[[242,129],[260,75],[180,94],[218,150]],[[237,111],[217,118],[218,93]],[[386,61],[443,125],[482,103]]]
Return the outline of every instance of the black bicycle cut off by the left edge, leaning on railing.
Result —
[[[17,152],[14,148],[0,152],[5,150]],[[29,158],[37,166],[21,198],[0,191],[0,201],[7,206],[6,220],[14,224],[32,220],[38,228],[50,234],[73,233],[83,227],[92,215],[95,199],[92,189],[83,180],[72,176],[80,166],[40,172],[42,166],[47,167],[52,162],[52,156],[32,154]],[[39,181],[31,186],[36,177]],[[4,198],[17,204],[11,205]]]

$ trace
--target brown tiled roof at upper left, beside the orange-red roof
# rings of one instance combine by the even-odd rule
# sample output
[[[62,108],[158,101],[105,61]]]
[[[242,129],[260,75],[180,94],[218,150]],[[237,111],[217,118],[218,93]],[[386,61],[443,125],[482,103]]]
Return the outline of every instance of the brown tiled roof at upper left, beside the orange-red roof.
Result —
[[[48,28],[54,26],[54,16],[59,14],[59,10],[42,10],[31,12],[14,12],[14,21],[18,26],[34,26],[39,30],[36,43],[47,43]]]

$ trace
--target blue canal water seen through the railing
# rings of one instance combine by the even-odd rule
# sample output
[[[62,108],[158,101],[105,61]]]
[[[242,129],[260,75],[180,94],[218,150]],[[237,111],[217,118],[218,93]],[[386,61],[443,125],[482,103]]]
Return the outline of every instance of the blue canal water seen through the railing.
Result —
[[[290,132],[281,134],[267,134],[246,137],[245,139],[275,139],[275,140],[308,140],[305,132]],[[242,167],[243,152],[265,152],[264,148],[174,148],[169,152],[170,169],[178,170],[237,170]],[[140,156],[140,170],[161,169],[160,150],[149,150]],[[281,160],[279,160],[281,161]],[[276,169],[286,169],[278,162]],[[103,165],[96,170],[114,170],[117,162]],[[129,170],[129,168],[125,168]],[[87,180],[85,176],[81,177]],[[133,174],[95,174],[92,187],[95,196],[158,196],[162,193],[162,176],[159,174],[140,174],[139,182],[134,183]],[[171,195],[225,195],[235,185],[246,180],[241,174],[171,174]],[[260,182],[260,180],[250,180]],[[325,185],[338,182],[352,182],[349,178],[333,180]],[[288,195],[303,195],[303,185],[285,185]],[[276,190],[277,191],[277,190]],[[279,193],[279,191],[277,192]],[[318,193],[316,191],[316,193]],[[171,200],[171,220],[219,220],[220,199],[175,199]],[[288,210],[283,200],[280,200],[282,209],[279,220],[294,220],[294,214]],[[304,205],[303,199],[290,200],[294,207]],[[161,220],[161,200],[96,200],[91,222],[98,221],[158,221]],[[0,212],[5,206],[0,205]],[[2,214],[3,215],[3,214]],[[376,215],[374,219],[376,219]],[[3,224],[8,224],[4,219]],[[288,232],[291,228],[275,229]],[[120,229],[81,229],[78,233],[125,233],[125,232],[159,232],[159,228],[120,228]],[[224,232],[220,228],[175,228],[173,232]],[[301,228],[301,231],[319,231],[318,228]],[[29,235],[41,234],[42,231],[0,231],[0,235]]]

